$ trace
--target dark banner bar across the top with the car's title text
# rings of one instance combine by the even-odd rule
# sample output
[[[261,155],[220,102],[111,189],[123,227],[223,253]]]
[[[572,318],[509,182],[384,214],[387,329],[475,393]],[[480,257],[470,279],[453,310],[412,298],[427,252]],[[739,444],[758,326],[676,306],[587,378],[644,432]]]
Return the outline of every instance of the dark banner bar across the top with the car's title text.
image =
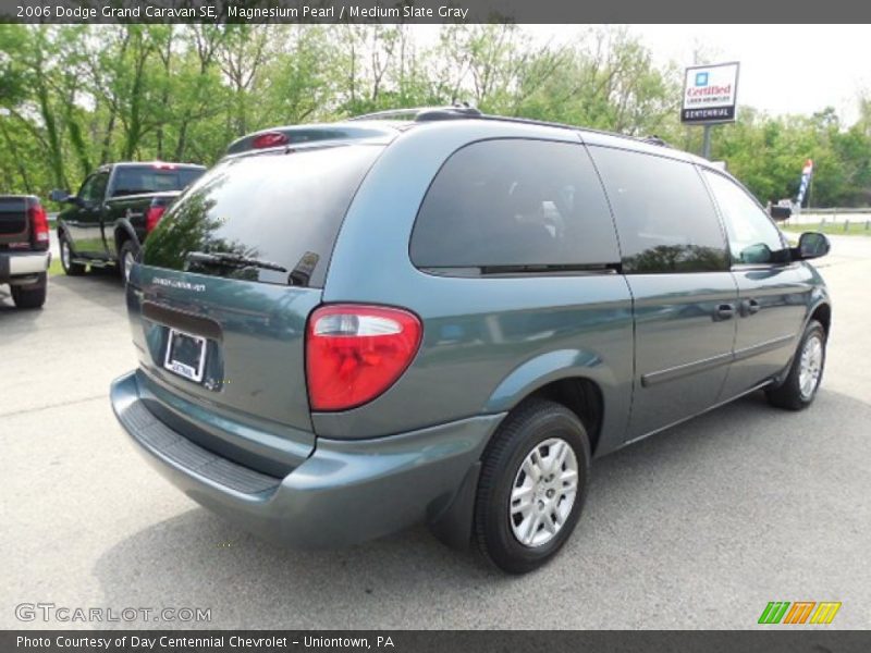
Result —
[[[21,23],[866,23],[857,0],[0,0]],[[789,47],[772,33],[772,47]]]

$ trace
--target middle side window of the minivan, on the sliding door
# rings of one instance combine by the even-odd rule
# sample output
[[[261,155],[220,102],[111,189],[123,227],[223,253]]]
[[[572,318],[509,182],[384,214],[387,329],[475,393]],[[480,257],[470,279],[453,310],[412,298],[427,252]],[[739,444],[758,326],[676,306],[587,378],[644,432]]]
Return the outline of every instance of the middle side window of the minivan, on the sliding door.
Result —
[[[626,272],[727,269],[723,230],[694,165],[606,147],[590,153],[614,210]]]

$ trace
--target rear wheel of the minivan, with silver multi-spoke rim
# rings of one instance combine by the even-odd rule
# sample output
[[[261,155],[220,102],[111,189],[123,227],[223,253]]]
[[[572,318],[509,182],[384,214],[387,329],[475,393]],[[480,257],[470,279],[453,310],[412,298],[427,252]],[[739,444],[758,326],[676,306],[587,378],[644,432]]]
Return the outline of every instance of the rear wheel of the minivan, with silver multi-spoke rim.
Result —
[[[475,535],[492,564],[526,574],[568,540],[587,494],[590,444],[562,404],[533,399],[510,414],[488,446],[475,504]]]

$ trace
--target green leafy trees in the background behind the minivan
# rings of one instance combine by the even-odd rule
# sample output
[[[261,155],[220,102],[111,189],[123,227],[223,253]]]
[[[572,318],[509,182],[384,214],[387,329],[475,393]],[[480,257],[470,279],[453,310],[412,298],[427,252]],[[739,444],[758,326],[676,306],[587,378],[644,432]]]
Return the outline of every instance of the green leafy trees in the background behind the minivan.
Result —
[[[278,124],[471,101],[483,111],[635,135],[698,151],[678,121],[682,71],[624,28],[533,41],[516,25],[0,25],[0,185],[46,196],[121,159],[211,164]],[[763,201],[795,197],[815,163],[814,206],[871,200],[871,99],[772,118],[741,108],[713,156]]]

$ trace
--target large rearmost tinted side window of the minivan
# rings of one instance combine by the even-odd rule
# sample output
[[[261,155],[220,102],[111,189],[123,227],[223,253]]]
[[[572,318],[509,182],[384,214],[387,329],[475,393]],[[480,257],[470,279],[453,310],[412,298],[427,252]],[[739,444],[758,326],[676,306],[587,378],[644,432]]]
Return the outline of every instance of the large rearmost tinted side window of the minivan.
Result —
[[[418,268],[605,266],[614,225],[580,144],[495,139],[454,152],[436,175],[410,242]]]

